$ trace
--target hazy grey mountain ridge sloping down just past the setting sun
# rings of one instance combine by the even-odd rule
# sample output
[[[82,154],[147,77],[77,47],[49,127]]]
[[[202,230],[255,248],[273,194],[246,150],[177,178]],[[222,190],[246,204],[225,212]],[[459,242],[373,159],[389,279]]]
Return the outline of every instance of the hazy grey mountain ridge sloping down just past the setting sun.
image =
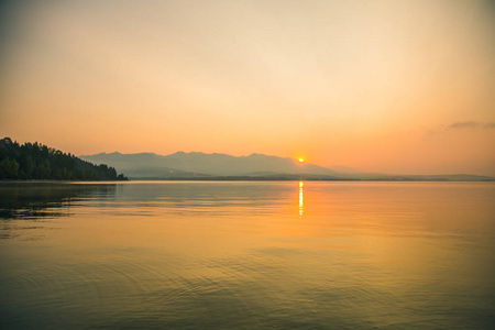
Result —
[[[109,164],[129,177],[188,177],[188,176],[266,176],[278,174],[308,174],[342,177],[342,174],[293,158],[252,154],[231,156],[199,152],[177,152],[167,156],[154,153],[100,153],[80,156],[95,164]]]

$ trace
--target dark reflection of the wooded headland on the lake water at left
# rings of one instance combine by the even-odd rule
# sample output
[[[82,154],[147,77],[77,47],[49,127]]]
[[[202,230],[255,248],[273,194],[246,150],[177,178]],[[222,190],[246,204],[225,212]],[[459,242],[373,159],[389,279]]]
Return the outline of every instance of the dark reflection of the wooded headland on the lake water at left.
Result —
[[[67,216],[64,210],[92,196],[110,197],[114,184],[8,183],[0,185],[0,219],[36,219]]]

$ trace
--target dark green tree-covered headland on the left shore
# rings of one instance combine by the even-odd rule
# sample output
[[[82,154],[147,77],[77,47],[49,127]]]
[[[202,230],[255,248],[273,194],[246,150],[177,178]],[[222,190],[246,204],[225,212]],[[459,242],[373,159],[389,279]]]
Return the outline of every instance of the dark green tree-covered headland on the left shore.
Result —
[[[127,180],[116,168],[94,165],[35,142],[0,140],[0,179]]]

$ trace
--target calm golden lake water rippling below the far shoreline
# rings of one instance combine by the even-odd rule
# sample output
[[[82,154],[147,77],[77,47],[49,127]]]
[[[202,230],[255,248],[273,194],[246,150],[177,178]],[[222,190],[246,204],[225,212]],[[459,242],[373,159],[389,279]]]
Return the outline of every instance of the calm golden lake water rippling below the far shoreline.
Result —
[[[493,183],[0,184],[1,329],[493,329]]]

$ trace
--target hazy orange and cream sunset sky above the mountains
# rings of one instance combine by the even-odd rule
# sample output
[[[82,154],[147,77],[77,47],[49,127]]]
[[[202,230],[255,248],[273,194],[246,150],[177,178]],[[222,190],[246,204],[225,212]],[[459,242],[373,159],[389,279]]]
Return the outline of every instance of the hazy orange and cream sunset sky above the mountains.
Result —
[[[495,175],[495,2],[0,4],[0,135]]]

